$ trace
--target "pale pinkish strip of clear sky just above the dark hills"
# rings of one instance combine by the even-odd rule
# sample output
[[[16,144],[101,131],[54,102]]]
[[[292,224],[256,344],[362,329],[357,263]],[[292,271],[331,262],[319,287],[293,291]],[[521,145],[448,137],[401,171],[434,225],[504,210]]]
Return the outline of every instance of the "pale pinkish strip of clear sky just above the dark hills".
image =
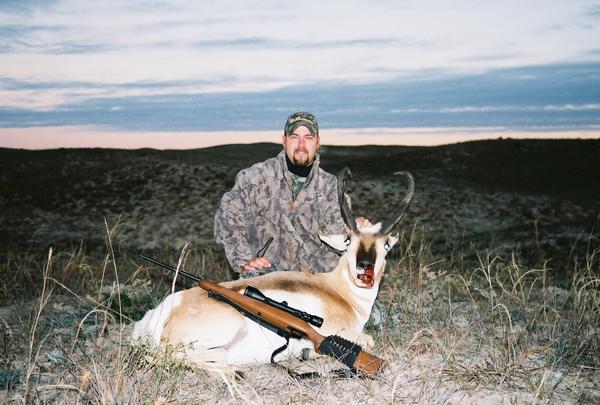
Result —
[[[11,129],[12,130],[12,129]],[[0,147],[8,149],[155,149],[191,150],[239,144],[281,144],[281,131],[221,131],[203,133],[103,133],[79,132],[73,128],[44,128],[28,133],[29,129],[5,132]],[[64,131],[62,136],[60,131]],[[92,134],[90,137],[89,135]],[[474,130],[472,128],[358,128],[321,131],[321,146],[443,146],[471,141],[520,140],[588,140],[600,139],[600,130],[560,132],[508,132]]]

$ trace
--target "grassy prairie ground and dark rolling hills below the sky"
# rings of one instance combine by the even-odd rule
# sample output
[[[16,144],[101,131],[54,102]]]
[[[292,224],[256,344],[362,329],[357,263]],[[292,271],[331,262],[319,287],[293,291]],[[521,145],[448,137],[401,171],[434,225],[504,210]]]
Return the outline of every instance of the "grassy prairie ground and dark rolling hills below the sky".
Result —
[[[272,365],[210,375],[177,348],[129,341],[133,320],[191,286],[137,253],[228,279],[211,212],[236,170],[277,147],[2,150],[0,400],[600,402],[599,143],[325,149],[328,170],[352,168],[357,213],[381,219],[401,198],[388,171],[413,172],[417,194],[381,286],[382,322],[367,325],[385,370],[340,379],[329,359],[286,364],[323,374],[307,380]]]

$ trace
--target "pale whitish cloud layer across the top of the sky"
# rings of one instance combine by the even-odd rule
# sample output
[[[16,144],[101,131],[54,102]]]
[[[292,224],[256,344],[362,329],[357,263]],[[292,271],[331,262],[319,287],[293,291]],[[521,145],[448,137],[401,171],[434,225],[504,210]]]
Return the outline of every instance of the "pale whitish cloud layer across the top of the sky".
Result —
[[[0,106],[349,88],[597,59],[595,2],[441,4],[4,1]]]

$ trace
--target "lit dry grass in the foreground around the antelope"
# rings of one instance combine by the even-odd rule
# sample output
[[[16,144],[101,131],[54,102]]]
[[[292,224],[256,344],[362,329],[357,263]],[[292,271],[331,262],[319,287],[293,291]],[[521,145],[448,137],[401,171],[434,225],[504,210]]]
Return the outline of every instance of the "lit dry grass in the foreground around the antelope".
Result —
[[[600,401],[600,248],[573,249],[568,269],[517,252],[449,249],[405,233],[389,260],[379,305],[376,379],[296,380],[271,365],[215,376],[175,355],[130,344],[131,323],[171,290],[169,275],[113,248],[77,247],[46,258],[9,254],[0,265],[13,296],[1,308],[0,399],[23,403],[593,403]],[[591,240],[591,239],[590,239]],[[576,241],[574,241],[576,243]],[[579,242],[577,242],[579,243]],[[543,253],[543,252],[542,252]],[[176,263],[176,252],[156,252]],[[544,255],[540,254],[543,258]],[[188,251],[185,269],[228,278],[222,256]],[[560,272],[558,271],[560,270]],[[556,274],[568,274],[560,279]],[[164,278],[163,278],[164,277]],[[6,301],[9,304],[9,301]],[[322,359],[290,362],[326,373]]]

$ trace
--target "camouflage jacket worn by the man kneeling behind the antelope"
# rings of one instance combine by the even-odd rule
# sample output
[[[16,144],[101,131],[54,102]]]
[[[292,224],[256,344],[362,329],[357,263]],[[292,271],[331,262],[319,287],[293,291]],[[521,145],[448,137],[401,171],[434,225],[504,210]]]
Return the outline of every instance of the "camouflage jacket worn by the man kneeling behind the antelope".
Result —
[[[273,237],[267,249],[271,270],[326,272],[339,256],[319,233],[339,234],[345,225],[337,201],[337,179],[319,168],[319,155],[296,199],[285,151],[240,171],[215,214],[215,241],[232,269],[242,266]]]

